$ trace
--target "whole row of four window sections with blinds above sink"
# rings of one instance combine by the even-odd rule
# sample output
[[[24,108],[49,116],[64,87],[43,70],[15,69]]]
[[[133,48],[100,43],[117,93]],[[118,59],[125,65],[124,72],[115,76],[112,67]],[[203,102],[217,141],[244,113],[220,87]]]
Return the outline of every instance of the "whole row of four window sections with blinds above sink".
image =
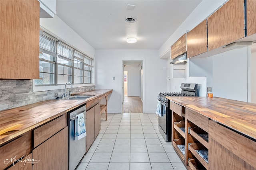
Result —
[[[36,86],[91,83],[92,59],[47,33],[40,35],[39,47],[41,79]]]

